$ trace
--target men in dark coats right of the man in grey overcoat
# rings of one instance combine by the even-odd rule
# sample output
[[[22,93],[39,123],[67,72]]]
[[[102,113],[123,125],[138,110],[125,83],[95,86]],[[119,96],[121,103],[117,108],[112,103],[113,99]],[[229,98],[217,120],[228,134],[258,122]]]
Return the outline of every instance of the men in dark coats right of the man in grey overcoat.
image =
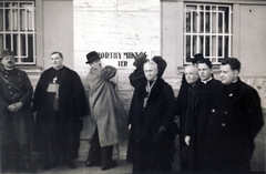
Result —
[[[161,78],[166,68],[162,58],[147,61],[140,55],[134,65],[126,156],[133,173],[171,173],[177,133],[181,172],[250,171],[254,139],[264,119],[257,91],[238,76],[241,62],[236,58],[221,62],[218,81],[212,62],[195,54],[193,64],[185,66],[176,100]]]

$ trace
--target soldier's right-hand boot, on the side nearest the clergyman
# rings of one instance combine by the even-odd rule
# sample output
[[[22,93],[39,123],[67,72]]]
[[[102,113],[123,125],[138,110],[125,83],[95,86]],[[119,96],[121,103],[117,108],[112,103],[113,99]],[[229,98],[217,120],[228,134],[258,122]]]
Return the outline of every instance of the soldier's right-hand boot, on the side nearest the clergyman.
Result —
[[[20,153],[21,153],[21,172],[25,173],[33,173],[33,170],[30,164],[30,145],[24,144],[20,145]]]

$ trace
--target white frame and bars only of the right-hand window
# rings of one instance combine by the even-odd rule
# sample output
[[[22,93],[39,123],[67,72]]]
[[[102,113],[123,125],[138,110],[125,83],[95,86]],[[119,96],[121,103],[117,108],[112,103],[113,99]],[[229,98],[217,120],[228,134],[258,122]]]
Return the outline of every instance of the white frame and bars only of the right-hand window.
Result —
[[[187,7],[196,7],[195,10],[191,10],[188,11],[187,10]],[[203,7],[203,9],[201,9]],[[209,7],[209,10],[206,10],[207,8],[206,7]],[[213,7],[215,7],[216,9],[219,9],[219,8],[228,8],[228,12],[227,12],[227,20],[228,20],[228,24],[227,24],[227,33],[225,33],[225,14],[223,14],[223,11],[218,11],[218,10],[215,10],[213,11]],[[191,30],[187,31],[187,12],[191,12],[191,19],[188,20],[190,23],[190,27],[191,27]],[[193,14],[194,12],[196,12],[196,16],[198,18],[193,18]],[[203,21],[201,21],[200,19],[200,16],[202,16],[203,13]],[[206,13],[209,13],[209,32],[206,32]],[[213,32],[212,30],[212,25],[213,23],[212,22],[216,22],[216,30],[218,30],[218,14],[222,13],[223,16],[223,23],[222,23],[222,27],[223,27],[223,30],[222,32]],[[213,14],[216,14],[216,19],[213,21]],[[194,20],[195,19],[195,20]],[[194,21],[193,21],[194,20]],[[212,61],[213,64],[221,64],[219,62],[225,58],[225,57],[232,57],[232,52],[233,52],[233,4],[225,4],[225,3],[193,3],[193,2],[185,2],[184,3],[184,18],[183,18],[183,21],[184,21],[184,30],[183,30],[183,61],[184,61],[184,64],[191,64],[191,62],[193,61],[194,59],[194,54],[196,53],[200,53],[202,52],[204,54],[204,58],[206,59],[209,59]],[[194,24],[193,22],[196,22],[196,24]],[[203,30],[201,32],[200,28],[201,28],[201,24],[203,25]],[[196,25],[196,31],[193,31],[193,27]],[[225,37],[227,37],[227,49],[226,50],[223,50],[225,49]],[[187,45],[187,40],[186,39],[190,39],[190,42],[188,42],[188,45]],[[193,38],[196,38],[196,43],[194,43],[194,40]],[[202,40],[202,43],[201,43],[201,38],[203,38]],[[206,52],[206,38],[209,38],[209,45],[212,47],[212,49],[208,49],[209,53],[207,54]],[[214,55],[213,54],[213,49],[214,49],[214,44],[212,42],[213,38],[216,38],[216,42],[215,44],[217,45],[216,47],[216,54]],[[221,49],[223,50],[222,51],[222,55],[218,54],[218,51],[219,51],[219,44],[221,42],[218,43],[218,40],[219,38],[222,38],[222,47]],[[196,44],[196,49],[195,49],[195,45]],[[188,53],[187,53],[187,48],[190,49]],[[202,51],[203,50],[203,51]],[[225,54],[225,51],[227,51],[227,53]],[[221,51],[219,51],[221,53]]]

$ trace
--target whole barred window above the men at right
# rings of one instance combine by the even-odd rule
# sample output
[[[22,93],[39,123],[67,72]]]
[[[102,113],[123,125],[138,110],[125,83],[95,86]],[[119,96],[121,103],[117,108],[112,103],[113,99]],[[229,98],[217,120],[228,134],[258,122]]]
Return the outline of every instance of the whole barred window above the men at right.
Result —
[[[186,3],[184,20],[184,63],[203,53],[213,64],[232,55],[232,6]]]

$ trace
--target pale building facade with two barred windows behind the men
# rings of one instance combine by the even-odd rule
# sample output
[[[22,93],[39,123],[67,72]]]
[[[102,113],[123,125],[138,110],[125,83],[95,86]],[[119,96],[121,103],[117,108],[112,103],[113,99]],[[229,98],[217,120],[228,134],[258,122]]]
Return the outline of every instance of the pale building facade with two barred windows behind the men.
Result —
[[[217,79],[219,61],[235,57],[242,62],[241,78],[258,91],[266,109],[265,11],[265,0],[3,0],[0,51],[16,51],[18,66],[29,73],[33,85],[51,66],[51,52],[61,51],[65,65],[84,80],[90,69],[85,54],[98,51],[104,64],[119,70],[114,80],[126,110],[134,90],[129,75],[140,52],[166,60],[163,78],[175,95],[184,65],[195,53],[211,59]],[[84,156],[85,123],[81,140]],[[265,141],[257,142],[253,166],[262,171]],[[126,142],[120,145],[119,156],[124,157],[125,146]]]

